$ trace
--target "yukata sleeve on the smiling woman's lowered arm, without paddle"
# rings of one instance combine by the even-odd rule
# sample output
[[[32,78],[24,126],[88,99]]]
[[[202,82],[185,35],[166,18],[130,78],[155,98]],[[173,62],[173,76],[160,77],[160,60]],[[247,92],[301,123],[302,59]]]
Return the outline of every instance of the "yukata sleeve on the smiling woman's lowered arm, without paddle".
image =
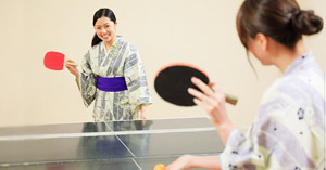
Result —
[[[137,113],[140,104],[150,105],[152,99],[150,96],[145,68],[138,51],[133,47],[130,47],[130,52],[125,61],[124,76],[129,92],[131,113]]]

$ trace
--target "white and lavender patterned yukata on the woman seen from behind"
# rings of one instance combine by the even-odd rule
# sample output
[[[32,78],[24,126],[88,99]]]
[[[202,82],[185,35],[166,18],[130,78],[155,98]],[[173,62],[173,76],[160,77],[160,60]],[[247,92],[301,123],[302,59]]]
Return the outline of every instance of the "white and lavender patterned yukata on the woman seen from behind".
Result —
[[[231,132],[222,169],[324,169],[325,105],[325,75],[308,52],[266,90],[247,134]]]

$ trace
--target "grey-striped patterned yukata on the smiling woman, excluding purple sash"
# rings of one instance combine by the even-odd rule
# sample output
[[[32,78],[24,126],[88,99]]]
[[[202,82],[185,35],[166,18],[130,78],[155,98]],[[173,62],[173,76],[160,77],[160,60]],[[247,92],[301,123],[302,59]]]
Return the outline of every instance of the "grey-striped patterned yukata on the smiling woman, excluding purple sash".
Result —
[[[108,52],[103,41],[88,50],[82,61],[82,69],[76,81],[84,104],[88,107],[95,101],[96,121],[139,119],[139,105],[152,103],[139,53],[121,36]],[[124,77],[127,90],[99,90],[98,76]]]

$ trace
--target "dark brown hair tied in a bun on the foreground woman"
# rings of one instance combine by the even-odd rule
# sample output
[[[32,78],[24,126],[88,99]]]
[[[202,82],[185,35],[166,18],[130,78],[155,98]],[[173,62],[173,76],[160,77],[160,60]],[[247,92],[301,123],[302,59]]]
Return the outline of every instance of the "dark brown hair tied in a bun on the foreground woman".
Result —
[[[248,49],[249,38],[258,32],[293,49],[302,35],[323,29],[323,19],[314,11],[303,11],[296,0],[244,0],[237,14],[237,30]]]

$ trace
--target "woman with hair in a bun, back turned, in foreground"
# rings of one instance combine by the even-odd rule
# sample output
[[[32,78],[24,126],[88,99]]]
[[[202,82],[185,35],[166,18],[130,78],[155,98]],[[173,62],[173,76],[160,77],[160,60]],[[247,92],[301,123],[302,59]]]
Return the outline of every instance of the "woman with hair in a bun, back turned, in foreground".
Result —
[[[222,90],[192,78],[203,93],[188,91],[209,113],[225,149],[216,156],[181,156],[167,169],[325,169],[325,75],[302,43],[302,35],[323,29],[323,19],[296,0],[246,0],[236,24],[248,52],[283,76],[265,91],[246,135],[229,120]]]

